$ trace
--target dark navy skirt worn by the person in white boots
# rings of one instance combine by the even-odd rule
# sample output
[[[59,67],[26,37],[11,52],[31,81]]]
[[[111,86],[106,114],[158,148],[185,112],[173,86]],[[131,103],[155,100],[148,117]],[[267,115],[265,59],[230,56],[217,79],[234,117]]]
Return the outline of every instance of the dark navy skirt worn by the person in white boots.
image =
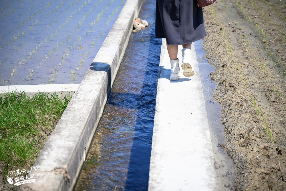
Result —
[[[166,38],[168,45],[182,45],[206,36],[202,8],[196,0],[156,1],[156,38]]]

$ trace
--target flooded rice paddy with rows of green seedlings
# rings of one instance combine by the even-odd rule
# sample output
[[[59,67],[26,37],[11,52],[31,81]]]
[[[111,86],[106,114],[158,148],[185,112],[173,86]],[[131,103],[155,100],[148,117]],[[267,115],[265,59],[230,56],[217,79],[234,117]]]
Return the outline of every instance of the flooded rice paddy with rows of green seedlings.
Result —
[[[0,1],[0,85],[80,83],[125,1]]]

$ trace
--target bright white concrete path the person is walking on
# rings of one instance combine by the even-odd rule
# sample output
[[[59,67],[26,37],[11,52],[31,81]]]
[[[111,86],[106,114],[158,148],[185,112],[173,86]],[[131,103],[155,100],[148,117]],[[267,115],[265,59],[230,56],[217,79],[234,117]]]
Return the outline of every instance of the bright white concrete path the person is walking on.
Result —
[[[218,190],[194,43],[191,50],[195,75],[169,80],[170,59],[162,40],[149,191]]]

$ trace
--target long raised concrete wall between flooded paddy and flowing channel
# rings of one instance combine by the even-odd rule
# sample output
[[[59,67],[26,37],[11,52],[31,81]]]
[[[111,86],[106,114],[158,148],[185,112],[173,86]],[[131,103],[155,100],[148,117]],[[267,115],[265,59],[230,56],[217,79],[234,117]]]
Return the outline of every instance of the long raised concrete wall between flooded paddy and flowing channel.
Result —
[[[124,56],[134,17],[144,0],[127,0],[78,90],[34,166],[36,183],[22,190],[72,190]]]

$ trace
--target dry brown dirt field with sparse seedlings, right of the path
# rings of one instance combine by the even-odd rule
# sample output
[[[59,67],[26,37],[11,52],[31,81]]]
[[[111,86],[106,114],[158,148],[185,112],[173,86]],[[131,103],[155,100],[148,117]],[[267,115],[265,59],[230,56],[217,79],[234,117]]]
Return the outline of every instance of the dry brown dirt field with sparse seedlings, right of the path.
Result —
[[[286,1],[204,7],[203,48],[215,67],[235,190],[286,190]]]

